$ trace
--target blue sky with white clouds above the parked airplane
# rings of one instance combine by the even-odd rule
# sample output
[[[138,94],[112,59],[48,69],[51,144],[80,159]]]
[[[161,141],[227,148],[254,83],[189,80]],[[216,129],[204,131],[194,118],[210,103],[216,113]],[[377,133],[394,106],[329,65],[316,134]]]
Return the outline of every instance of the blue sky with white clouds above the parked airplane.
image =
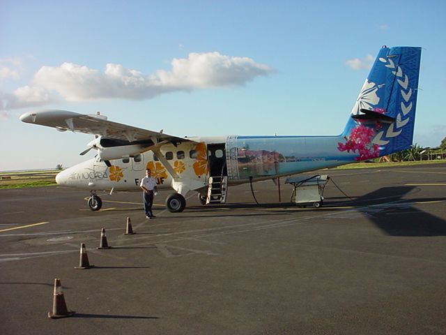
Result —
[[[3,0],[0,170],[93,156],[79,156],[92,136],[24,124],[29,110],[178,136],[336,135],[382,45],[424,47],[414,142],[438,146],[444,13],[412,0]]]

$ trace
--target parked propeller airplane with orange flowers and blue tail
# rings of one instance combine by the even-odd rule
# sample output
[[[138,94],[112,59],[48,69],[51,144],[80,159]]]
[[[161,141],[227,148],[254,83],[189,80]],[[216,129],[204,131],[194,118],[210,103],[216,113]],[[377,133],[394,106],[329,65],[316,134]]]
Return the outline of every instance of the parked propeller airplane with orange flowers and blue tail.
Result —
[[[301,172],[386,156],[412,145],[421,47],[383,46],[362,85],[347,124],[335,136],[176,137],[162,131],[109,121],[97,114],[40,110],[20,120],[92,134],[95,158],[59,172],[56,183],[90,190],[88,204],[98,211],[96,190],[140,191],[150,169],[159,189],[173,188],[167,209],[181,212],[186,194],[201,204],[224,203],[232,185],[277,179]]]

